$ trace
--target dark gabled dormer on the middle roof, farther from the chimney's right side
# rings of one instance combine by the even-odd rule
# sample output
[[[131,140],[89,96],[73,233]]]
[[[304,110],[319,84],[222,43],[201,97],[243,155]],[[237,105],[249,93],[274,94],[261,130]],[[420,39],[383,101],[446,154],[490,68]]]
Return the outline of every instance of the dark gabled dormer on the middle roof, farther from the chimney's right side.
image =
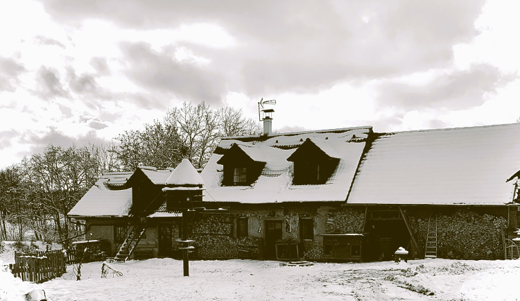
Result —
[[[222,186],[246,186],[256,181],[266,165],[259,150],[232,144],[217,161],[224,166]]]

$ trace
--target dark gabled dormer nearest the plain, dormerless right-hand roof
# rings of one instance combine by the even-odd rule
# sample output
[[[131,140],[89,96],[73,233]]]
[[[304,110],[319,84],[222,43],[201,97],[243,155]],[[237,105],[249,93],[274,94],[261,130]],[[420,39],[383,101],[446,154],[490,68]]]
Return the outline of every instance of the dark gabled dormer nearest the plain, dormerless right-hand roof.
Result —
[[[320,147],[307,138],[287,158],[294,164],[293,184],[325,184],[340,162],[338,157],[330,146]]]

